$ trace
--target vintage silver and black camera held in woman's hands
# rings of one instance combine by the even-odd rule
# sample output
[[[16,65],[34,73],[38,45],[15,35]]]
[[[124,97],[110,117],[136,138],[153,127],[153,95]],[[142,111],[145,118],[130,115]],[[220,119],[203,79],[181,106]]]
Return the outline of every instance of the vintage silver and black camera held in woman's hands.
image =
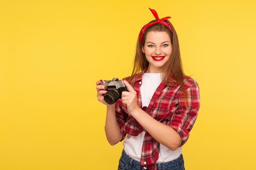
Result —
[[[101,85],[106,86],[108,89],[104,95],[104,100],[107,104],[114,104],[118,99],[121,99],[123,91],[128,91],[122,80],[113,78],[112,80],[103,80]]]

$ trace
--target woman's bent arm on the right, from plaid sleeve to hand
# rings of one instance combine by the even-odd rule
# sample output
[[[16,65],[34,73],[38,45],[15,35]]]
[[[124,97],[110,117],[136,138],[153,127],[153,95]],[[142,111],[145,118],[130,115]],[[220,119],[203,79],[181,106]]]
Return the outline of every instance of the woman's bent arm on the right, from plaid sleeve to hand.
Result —
[[[170,150],[176,150],[180,145],[183,145],[196,119],[199,109],[199,90],[197,88],[189,88],[188,107],[184,107],[184,96],[177,99],[177,103],[170,115],[171,123],[168,125],[162,124],[153,117],[145,113],[137,105],[137,97],[134,89],[127,82],[123,81],[129,92],[123,92],[123,104],[127,106],[128,113],[134,117],[141,126],[143,126],[150,135],[155,138],[160,144],[166,146]],[[197,86],[198,87],[198,86]]]

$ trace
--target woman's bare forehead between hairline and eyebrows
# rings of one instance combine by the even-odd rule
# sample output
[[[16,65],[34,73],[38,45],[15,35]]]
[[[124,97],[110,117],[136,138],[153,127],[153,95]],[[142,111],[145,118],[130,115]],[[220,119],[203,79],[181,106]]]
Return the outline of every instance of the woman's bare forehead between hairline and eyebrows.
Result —
[[[161,31],[161,32],[150,31],[146,35],[146,43],[147,42],[161,43],[165,41],[171,42],[168,33],[166,33],[165,31]]]

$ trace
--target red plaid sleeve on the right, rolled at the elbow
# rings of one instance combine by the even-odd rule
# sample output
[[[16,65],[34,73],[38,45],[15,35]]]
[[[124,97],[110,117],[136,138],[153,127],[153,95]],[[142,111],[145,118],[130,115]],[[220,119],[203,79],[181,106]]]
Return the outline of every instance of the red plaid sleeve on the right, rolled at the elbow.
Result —
[[[178,97],[170,114],[170,126],[180,134],[181,146],[189,138],[189,132],[193,128],[200,107],[198,84],[193,84],[186,91],[187,98],[185,99],[184,94]]]

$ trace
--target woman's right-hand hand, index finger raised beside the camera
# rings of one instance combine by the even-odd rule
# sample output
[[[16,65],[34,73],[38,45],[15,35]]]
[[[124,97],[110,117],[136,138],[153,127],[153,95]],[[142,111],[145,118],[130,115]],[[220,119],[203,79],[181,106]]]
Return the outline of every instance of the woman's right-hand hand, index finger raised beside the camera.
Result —
[[[140,109],[137,103],[137,93],[126,80],[122,79],[122,81],[128,89],[128,91],[122,92],[122,102],[124,106],[127,107],[128,113],[133,115],[138,109]]]

